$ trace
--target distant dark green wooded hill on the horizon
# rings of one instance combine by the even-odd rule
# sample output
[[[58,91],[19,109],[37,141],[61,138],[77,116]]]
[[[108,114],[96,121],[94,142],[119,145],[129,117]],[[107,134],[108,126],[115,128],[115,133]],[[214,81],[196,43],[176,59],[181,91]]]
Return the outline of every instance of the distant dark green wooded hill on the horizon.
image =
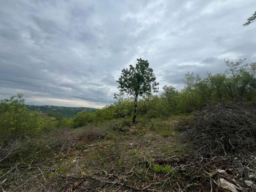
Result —
[[[60,107],[60,106],[40,106],[40,105],[26,105],[26,108],[32,111],[40,111],[55,117],[72,118],[80,111],[95,112],[98,109],[90,107]]]

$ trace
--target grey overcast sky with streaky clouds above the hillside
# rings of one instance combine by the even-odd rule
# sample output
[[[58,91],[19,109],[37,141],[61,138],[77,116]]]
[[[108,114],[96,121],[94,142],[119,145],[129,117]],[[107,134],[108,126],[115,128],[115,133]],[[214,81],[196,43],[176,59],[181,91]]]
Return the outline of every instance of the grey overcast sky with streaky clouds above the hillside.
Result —
[[[256,0],[0,0],[0,99],[100,108],[121,70],[150,62],[161,90],[187,71],[256,62]]]

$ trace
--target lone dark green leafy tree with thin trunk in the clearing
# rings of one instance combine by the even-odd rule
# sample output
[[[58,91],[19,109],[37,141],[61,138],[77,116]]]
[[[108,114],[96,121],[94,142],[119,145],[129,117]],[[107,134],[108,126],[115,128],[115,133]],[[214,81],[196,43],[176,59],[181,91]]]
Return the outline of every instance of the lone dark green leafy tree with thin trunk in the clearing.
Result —
[[[135,123],[137,116],[138,96],[143,94],[150,95],[151,92],[158,92],[158,82],[156,82],[153,69],[148,67],[148,60],[142,58],[137,59],[136,67],[130,65],[130,68],[122,70],[122,75],[119,78],[119,91],[134,96],[134,116],[132,123]]]

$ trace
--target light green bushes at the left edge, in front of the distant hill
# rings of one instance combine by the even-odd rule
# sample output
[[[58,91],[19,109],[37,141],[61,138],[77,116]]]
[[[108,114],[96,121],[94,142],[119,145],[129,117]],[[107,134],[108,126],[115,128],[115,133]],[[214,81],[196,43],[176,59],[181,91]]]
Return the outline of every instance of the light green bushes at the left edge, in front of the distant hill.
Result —
[[[0,101],[0,143],[38,137],[42,132],[71,123],[66,118],[57,120],[39,111],[30,111],[24,102],[22,94]]]

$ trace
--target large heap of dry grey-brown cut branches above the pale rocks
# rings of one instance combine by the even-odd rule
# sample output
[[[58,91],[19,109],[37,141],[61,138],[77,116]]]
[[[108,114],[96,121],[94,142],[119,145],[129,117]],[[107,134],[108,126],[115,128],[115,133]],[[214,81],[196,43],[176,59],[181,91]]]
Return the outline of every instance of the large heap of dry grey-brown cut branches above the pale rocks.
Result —
[[[256,147],[256,108],[252,105],[206,106],[183,138],[211,155],[252,152]]]

